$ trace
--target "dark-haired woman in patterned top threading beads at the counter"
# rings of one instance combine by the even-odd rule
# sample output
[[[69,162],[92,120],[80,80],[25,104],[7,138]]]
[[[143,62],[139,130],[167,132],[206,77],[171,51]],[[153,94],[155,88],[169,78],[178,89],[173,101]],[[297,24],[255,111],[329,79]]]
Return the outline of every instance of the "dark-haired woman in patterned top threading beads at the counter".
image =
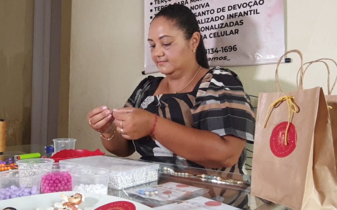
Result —
[[[143,160],[243,173],[240,156],[253,141],[254,113],[235,73],[208,69],[194,14],[178,4],[163,8],[148,42],[166,77],[145,78],[124,108],[89,112],[104,147],[122,157],[137,151]]]

